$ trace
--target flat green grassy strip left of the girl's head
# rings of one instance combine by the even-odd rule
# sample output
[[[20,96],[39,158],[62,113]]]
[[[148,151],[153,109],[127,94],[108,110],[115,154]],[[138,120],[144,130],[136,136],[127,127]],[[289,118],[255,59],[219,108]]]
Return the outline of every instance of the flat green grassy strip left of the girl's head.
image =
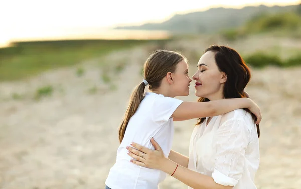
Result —
[[[15,43],[12,47],[0,49],[0,81],[30,77],[48,69],[72,66],[113,50],[154,41],[156,40],[67,40]],[[78,76],[83,73],[83,70],[77,71]]]

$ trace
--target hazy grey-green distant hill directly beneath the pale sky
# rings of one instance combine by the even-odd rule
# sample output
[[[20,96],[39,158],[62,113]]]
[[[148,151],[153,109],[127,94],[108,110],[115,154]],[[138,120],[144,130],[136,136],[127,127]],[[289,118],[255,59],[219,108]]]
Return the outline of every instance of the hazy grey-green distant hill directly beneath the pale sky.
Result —
[[[296,12],[300,5],[290,6],[248,6],[242,9],[212,8],[206,11],[188,14],[176,14],[162,23],[147,23],[140,26],[116,27],[130,30],[168,30],[175,33],[211,33],[236,28],[246,24],[250,19],[262,14]]]

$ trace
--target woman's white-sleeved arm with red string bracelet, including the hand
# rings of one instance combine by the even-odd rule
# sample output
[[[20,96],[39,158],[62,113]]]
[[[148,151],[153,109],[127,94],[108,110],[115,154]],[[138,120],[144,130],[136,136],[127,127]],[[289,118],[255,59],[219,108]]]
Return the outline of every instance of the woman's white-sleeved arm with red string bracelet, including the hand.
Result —
[[[127,149],[129,155],[134,158],[131,160],[132,163],[160,169],[192,188],[226,189],[235,186],[243,175],[245,150],[249,143],[248,133],[245,122],[239,119],[230,119],[218,128],[213,138],[217,149],[211,176],[194,172],[181,165],[177,167],[177,163],[165,158],[161,147],[153,138],[150,142],[155,150],[136,143],[131,144],[134,148]]]

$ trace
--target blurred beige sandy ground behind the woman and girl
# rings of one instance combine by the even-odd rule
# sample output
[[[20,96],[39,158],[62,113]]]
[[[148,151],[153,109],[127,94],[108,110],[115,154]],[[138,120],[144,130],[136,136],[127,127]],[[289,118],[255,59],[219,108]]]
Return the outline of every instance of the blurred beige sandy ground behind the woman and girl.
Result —
[[[193,49],[194,45],[181,47]],[[104,188],[115,162],[117,127],[133,87],[142,81],[141,65],[154,48],[114,52],[106,60],[91,60],[83,64],[82,77],[73,67],[0,83],[0,188]],[[110,72],[110,83],[101,81],[102,72],[95,64],[107,60],[129,62],[121,73]],[[195,71],[192,64],[190,75]],[[300,188],[301,67],[268,67],[252,70],[252,74],[246,90],[263,114],[257,188]],[[37,88],[45,85],[54,87],[53,94],[34,100]],[[196,101],[194,88],[190,91],[190,96],[179,99]],[[21,99],[13,99],[13,93]],[[175,123],[175,151],[188,155],[195,122]],[[187,186],[167,176],[160,188]]]

